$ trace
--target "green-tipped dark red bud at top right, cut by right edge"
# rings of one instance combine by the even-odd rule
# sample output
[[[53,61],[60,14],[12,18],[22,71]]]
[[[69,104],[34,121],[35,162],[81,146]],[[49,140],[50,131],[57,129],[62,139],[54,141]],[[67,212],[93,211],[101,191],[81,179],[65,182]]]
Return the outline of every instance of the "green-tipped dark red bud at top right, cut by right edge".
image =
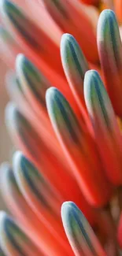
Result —
[[[98,53],[105,86],[118,116],[122,116],[122,45],[116,16],[104,10],[98,20]]]

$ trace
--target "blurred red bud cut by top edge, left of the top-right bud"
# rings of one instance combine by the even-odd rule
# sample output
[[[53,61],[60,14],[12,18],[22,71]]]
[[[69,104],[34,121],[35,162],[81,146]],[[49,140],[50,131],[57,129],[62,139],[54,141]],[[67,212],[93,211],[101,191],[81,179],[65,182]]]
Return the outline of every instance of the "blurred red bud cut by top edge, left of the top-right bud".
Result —
[[[98,63],[94,28],[89,17],[83,12],[83,6],[79,6],[78,1],[68,0],[43,0],[43,3],[63,32],[68,32],[76,38],[87,59]],[[82,23],[79,20],[82,20]],[[89,50],[88,42],[92,51]]]

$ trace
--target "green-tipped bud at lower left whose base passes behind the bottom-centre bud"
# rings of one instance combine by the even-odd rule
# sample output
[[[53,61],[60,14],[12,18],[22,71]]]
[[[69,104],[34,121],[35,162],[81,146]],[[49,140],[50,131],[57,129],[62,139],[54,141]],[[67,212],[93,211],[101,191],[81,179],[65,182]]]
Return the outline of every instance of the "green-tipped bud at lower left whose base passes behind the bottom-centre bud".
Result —
[[[60,221],[63,197],[23,154],[17,152],[14,155],[13,169],[20,191],[34,210],[35,216],[37,215],[50,232],[61,240],[62,247],[70,251]],[[72,254],[72,251],[70,253]]]

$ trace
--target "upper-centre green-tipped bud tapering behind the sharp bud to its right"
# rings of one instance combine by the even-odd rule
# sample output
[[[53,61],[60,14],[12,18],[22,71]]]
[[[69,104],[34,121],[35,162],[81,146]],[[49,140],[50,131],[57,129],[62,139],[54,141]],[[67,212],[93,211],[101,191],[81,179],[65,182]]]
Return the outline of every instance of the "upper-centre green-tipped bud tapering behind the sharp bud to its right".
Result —
[[[82,113],[83,121],[91,131],[91,123],[87,116],[87,109],[83,95],[83,80],[85,72],[89,69],[86,58],[76,39],[70,34],[64,34],[61,38],[61,61],[65,76]]]

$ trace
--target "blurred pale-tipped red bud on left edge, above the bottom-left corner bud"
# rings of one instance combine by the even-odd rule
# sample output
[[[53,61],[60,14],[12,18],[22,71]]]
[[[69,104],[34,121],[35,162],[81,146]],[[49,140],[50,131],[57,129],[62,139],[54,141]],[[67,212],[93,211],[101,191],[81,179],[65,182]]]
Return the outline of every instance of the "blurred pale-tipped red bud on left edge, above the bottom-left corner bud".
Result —
[[[52,232],[50,227],[46,227],[43,221],[35,215],[34,211],[25,201],[17,186],[13,170],[7,163],[3,163],[1,168],[1,192],[10,213],[14,213],[18,223],[22,224],[24,232],[30,239],[44,251],[46,254],[62,254],[61,239],[58,239]],[[64,250],[65,254],[65,250]]]

